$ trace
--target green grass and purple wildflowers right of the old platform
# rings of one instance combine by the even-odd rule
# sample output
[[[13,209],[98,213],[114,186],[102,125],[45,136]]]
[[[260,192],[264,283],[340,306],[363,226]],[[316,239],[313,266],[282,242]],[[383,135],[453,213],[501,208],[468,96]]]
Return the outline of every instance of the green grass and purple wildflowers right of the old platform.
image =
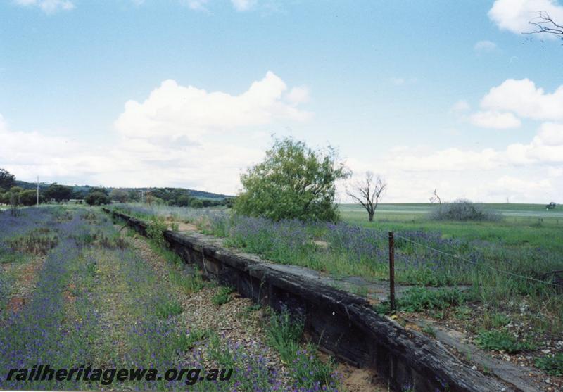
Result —
[[[398,234],[395,242],[398,284],[436,287],[464,284],[470,286],[472,301],[487,303],[492,309],[505,308],[509,302],[526,301],[536,311],[536,315],[529,315],[534,327],[559,333],[563,329],[563,301],[553,286],[537,281],[548,282],[553,279],[548,274],[550,271],[563,269],[563,210],[546,211],[543,205],[512,203],[481,206],[484,210],[495,210],[503,219],[437,222],[428,217],[436,205],[419,203],[381,204],[375,222],[367,221],[367,213],[361,207],[342,205],[342,217],[348,225],[232,218],[205,209],[198,211],[197,222],[206,233],[225,237],[227,246],[267,260],[308,267],[334,277],[360,276],[367,280],[388,277],[387,232],[394,231]],[[118,208],[134,214],[151,213],[140,206]],[[165,216],[162,211],[152,213]],[[175,210],[173,214],[184,213]],[[445,253],[436,253],[426,246]],[[369,295],[361,287],[353,291],[360,296]],[[436,315],[442,312],[433,303],[417,307]]]

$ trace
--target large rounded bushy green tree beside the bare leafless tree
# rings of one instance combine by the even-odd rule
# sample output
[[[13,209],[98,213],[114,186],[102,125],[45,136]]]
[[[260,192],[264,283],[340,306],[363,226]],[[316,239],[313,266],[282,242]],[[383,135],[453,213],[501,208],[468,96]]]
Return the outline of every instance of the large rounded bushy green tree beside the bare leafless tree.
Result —
[[[236,213],[272,220],[339,220],[336,180],[349,172],[329,146],[313,150],[303,141],[276,139],[262,163],[241,175]]]

